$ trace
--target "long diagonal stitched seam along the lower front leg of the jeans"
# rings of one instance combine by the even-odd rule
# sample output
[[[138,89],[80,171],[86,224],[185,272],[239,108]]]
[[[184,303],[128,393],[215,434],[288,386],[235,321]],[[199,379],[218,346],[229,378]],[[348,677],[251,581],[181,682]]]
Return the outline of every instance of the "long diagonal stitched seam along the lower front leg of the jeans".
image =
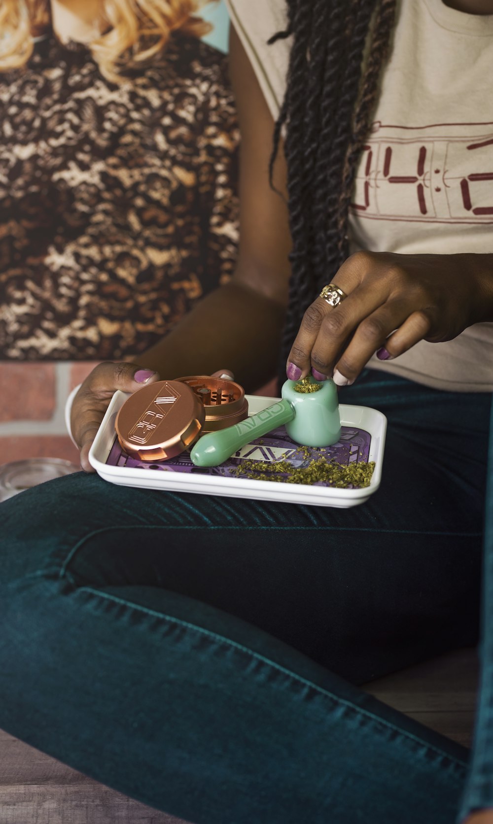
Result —
[[[412,733],[408,733],[405,730],[401,730],[400,728],[396,727],[394,724],[378,718],[378,715],[375,715],[369,712],[368,709],[361,709],[360,707],[352,704],[350,701],[345,699],[339,698],[337,695],[322,689],[322,687],[317,686],[312,681],[308,681],[306,678],[298,676],[296,673],[291,672],[290,670],[285,669],[285,667],[281,667],[279,664],[271,661],[269,658],[265,658],[265,656],[261,655],[260,653],[256,653],[253,650],[243,646],[242,644],[238,644],[236,641],[232,641],[231,639],[225,638],[223,635],[219,635],[218,633],[211,632],[210,630],[204,630],[203,627],[197,626],[195,624],[190,624],[189,621],[181,620],[180,618],[176,618],[174,616],[168,616],[165,613],[157,612],[155,610],[149,609],[147,606],[141,606],[140,604],[135,604],[133,602],[125,601],[124,598],[119,598],[114,595],[110,595],[107,592],[102,592],[101,590],[94,589],[92,587],[80,587],[74,582],[72,575],[67,572],[66,574],[60,575],[60,577],[66,578],[69,583],[73,584],[73,588],[76,592],[90,592],[93,596],[104,598],[107,601],[114,602],[115,604],[120,604],[121,606],[126,606],[127,608],[135,611],[140,611],[146,613],[147,615],[153,616],[155,618],[159,618],[161,620],[167,621],[168,623],[172,623],[181,627],[184,627],[187,630],[195,631],[198,634],[202,634],[207,636],[210,639],[220,643],[220,644],[227,644],[229,647],[236,648],[242,653],[246,653],[250,658],[255,658],[257,661],[261,661],[262,663],[266,664],[268,667],[275,669],[277,672],[282,672],[283,675],[291,678],[293,681],[298,681],[298,683],[303,684],[304,686],[310,687],[313,691],[316,691],[319,695],[324,695],[326,698],[331,699],[336,705],[342,705],[351,709],[355,714],[359,714],[363,717],[370,719],[373,724],[380,728],[388,728],[391,729],[394,733],[398,733],[401,737],[408,738],[410,741],[413,741],[420,745],[420,747],[425,747],[426,750],[434,752],[436,755],[440,756],[440,758],[444,758],[447,761],[453,762],[461,767],[465,767],[467,769],[467,763],[464,761],[460,761],[458,758],[454,758],[453,756],[449,756],[448,753],[445,753],[442,750],[439,750],[438,747],[434,747],[431,744],[423,741],[422,739],[412,735]]]

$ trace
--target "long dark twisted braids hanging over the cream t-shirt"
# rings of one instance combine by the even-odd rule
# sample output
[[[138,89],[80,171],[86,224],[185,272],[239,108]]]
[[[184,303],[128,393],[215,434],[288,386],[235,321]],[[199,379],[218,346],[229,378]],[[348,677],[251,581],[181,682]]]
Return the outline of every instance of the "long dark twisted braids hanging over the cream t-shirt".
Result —
[[[293,239],[281,366],[303,313],[349,254],[348,213],[371,128],[397,0],[287,0],[293,35],[286,93],[275,124],[270,178],[286,127]],[[364,70],[362,67],[364,65]]]

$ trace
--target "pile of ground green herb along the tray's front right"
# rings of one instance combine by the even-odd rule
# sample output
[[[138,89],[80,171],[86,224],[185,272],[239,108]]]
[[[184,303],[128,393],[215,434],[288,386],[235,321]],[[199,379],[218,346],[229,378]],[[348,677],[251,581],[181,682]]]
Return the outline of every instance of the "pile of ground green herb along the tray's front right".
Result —
[[[306,447],[305,447],[306,448]],[[265,461],[242,461],[237,475],[247,475],[252,480],[274,480],[284,484],[313,485],[326,483],[336,489],[362,489],[369,486],[375,461],[354,461],[347,465],[336,460],[314,458],[308,466],[292,466],[289,461],[265,464]]]

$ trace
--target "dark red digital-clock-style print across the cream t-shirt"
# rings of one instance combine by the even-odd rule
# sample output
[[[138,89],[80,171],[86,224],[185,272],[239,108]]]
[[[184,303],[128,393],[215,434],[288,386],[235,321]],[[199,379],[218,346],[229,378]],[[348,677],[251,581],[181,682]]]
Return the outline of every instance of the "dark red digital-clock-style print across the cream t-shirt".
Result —
[[[359,218],[493,223],[493,123],[373,124],[356,176]]]

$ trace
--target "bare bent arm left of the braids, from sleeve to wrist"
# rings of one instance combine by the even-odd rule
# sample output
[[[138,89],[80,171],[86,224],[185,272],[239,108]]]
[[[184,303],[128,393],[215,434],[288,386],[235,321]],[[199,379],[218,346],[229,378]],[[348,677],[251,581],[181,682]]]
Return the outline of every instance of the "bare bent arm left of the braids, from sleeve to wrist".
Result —
[[[277,368],[290,274],[289,219],[284,199],[269,183],[273,119],[234,29],[230,67],[242,132],[237,267],[230,283],[205,297],[139,363],[169,377],[226,365],[252,390]],[[285,180],[281,151],[274,182],[284,193]]]

